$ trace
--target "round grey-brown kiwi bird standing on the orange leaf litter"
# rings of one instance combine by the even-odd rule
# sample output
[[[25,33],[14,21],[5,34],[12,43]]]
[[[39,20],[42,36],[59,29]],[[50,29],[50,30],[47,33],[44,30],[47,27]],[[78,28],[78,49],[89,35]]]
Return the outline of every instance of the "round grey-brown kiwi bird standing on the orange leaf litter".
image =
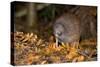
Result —
[[[56,19],[53,30],[58,42],[72,43],[80,39],[80,21],[73,14],[64,14]]]

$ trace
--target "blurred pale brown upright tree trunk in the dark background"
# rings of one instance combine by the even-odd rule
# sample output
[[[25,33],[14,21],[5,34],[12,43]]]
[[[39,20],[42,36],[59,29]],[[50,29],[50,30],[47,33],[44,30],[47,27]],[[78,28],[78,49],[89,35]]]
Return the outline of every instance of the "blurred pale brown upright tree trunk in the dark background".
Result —
[[[27,10],[27,22],[28,27],[33,28],[37,25],[37,12],[36,12],[36,4],[29,3],[28,10]]]

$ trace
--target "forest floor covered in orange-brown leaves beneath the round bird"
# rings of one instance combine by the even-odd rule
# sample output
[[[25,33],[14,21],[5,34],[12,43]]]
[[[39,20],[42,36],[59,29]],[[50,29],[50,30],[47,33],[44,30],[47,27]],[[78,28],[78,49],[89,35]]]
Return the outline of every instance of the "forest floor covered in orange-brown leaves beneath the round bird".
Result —
[[[34,33],[12,33],[11,49],[14,65],[51,64],[97,60],[97,40],[90,38],[79,43],[78,48],[62,43],[56,47],[55,37],[49,41]],[[14,38],[14,39],[13,39]]]

